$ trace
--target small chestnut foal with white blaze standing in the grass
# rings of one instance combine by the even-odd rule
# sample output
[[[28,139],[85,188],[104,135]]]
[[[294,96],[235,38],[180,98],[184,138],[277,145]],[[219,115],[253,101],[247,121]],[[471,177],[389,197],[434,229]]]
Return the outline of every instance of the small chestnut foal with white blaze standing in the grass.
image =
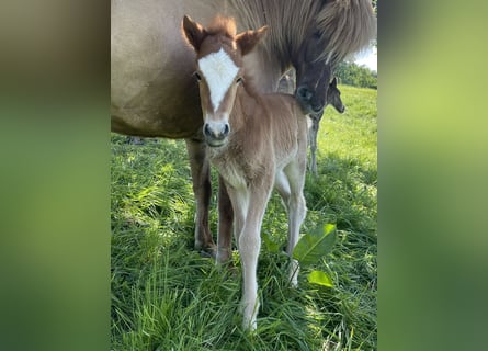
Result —
[[[305,218],[307,121],[292,95],[259,94],[242,68],[268,27],[236,34],[234,19],[217,16],[204,29],[183,18],[183,33],[196,52],[196,72],[208,155],[235,212],[235,238],[242,262],[243,327],[254,330],[259,309],[257,265],[261,224],[273,186],[288,214],[287,253]],[[217,263],[228,260],[218,238]],[[297,284],[298,263],[290,280]]]

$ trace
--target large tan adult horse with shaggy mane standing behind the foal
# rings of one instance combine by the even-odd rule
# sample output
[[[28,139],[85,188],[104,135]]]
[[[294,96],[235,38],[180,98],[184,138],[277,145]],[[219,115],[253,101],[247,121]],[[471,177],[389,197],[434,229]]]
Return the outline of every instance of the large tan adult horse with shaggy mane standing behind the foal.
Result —
[[[234,16],[239,32],[269,25],[265,39],[246,56],[246,70],[261,92],[273,92],[293,66],[295,97],[304,112],[311,113],[324,109],[325,84],[330,81],[325,68],[374,38],[371,0],[112,0],[111,5],[112,131],[185,139],[196,199],[195,248],[225,262],[234,213],[222,185],[218,230],[219,247],[225,249],[215,252],[208,226],[209,162],[193,76],[195,53],[181,35],[183,14],[203,24],[216,13]]]

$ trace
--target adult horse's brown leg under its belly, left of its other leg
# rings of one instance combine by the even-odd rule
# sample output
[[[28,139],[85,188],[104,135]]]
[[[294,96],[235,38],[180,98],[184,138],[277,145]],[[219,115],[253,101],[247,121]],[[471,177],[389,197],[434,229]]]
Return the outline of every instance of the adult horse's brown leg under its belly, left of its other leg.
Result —
[[[208,227],[208,210],[212,195],[211,166],[206,157],[206,146],[201,140],[185,139],[192,170],[193,193],[196,201],[195,249],[215,254],[215,244]]]

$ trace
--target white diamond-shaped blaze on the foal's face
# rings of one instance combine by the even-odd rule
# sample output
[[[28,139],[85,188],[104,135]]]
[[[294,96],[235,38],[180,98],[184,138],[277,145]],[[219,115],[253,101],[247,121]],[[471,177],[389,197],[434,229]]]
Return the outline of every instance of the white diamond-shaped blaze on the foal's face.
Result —
[[[198,67],[208,84],[214,111],[217,111],[239,68],[223,48],[218,53],[202,57]]]

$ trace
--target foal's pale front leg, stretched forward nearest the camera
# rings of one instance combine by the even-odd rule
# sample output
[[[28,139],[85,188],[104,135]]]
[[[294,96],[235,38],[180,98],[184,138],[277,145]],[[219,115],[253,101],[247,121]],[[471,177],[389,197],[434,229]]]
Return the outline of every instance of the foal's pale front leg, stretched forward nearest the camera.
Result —
[[[272,189],[272,180],[266,179],[256,186],[250,185],[248,212],[242,231],[239,236],[239,253],[242,262],[242,326],[254,330],[259,310],[258,301],[258,257],[261,249],[261,225]],[[236,211],[237,213],[237,211]]]

